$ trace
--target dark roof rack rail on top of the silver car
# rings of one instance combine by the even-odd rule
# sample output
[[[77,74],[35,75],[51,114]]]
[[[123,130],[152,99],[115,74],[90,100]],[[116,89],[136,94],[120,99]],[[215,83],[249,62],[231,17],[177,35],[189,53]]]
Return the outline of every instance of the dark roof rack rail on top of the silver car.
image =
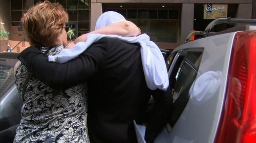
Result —
[[[203,35],[204,37],[208,36],[209,34],[215,34],[216,32],[210,32],[211,31],[211,28],[214,27],[215,25],[217,24],[222,24],[222,23],[248,23],[248,24],[256,24],[256,19],[241,19],[241,18],[218,18],[218,19],[215,19],[214,21],[211,21],[207,27],[205,28],[204,32],[203,31],[195,31],[193,33],[190,33],[186,40],[185,40],[185,43],[189,41],[189,38],[191,36],[194,36],[194,35]]]

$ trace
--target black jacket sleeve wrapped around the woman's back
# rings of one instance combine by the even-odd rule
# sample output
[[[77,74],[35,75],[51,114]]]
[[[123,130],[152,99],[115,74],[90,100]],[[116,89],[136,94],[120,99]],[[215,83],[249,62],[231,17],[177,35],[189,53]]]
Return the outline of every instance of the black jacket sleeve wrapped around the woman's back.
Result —
[[[36,47],[28,47],[18,55],[32,75],[51,88],[66,90],[88,81],[98,71],[105,59],[108,41],[95,42],[77,58],[64,64],[48,62],[47,57]]]

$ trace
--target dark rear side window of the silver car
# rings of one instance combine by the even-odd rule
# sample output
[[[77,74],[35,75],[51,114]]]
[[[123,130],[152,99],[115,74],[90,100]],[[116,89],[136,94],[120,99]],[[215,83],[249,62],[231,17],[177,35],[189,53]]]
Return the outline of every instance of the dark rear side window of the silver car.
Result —
[[[197,77],[202,50],[178,51],[175,55],[171,54],[169,58],[172,60],[167,59],[167,62],[173,61],[168,71],[174,102],[174,110],[169,120],[169,126],[172,128],[188,102],[188,91]]]

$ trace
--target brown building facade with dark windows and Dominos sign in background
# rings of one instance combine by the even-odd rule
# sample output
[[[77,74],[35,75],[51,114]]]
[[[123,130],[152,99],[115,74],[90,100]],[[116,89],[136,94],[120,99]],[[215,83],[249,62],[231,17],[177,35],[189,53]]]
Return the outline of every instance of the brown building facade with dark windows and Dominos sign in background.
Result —
[[[21,44],[18,46],[21,47],[18,51],[27,46],[24,42],[26,39],[20,18],[29,7],[38,2],[40,1],[1,1],[1,29],[10,33],[8,38],[1,40],[1,47],[5,46],[5,40],[16,41],[16,45]],[[174,49],[183,44],[191,31],[204,31],[207,24],[218,17],[256,18],[256,0],[51,0],[50,2],[60,3],[67,11],[68,24],[76,31],[76,37],[94,30],[96,20],[103,12],[116,11],[137,24],[142,33],[149,35],[152,41],[164,49]],[[216,26],[214,31],[232,26],[234,25],[221,24]]]

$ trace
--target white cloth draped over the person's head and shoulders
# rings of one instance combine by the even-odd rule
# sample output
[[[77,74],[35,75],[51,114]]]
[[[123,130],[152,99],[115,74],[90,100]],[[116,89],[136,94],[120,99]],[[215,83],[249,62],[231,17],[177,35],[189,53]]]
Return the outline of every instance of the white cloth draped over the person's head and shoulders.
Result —
[[[121,14],[113,11],[105,12],[98,18],[95,30],[121,20],[125,20]],[[137,37],[89,34],[86,41],[78,42],[72,49],[62,49],[59,54],[48,56],[48,60],[50,62],[66,63],[76,58],[76,56],[84,52],[92,43],[103,37],[117,38],[127,43],[139,43],[141,45],[141,60],[147,87],[151,90],[167,90],[169,79],[162,52],[153,41],[150,41],[150,37],[146,34]]]

